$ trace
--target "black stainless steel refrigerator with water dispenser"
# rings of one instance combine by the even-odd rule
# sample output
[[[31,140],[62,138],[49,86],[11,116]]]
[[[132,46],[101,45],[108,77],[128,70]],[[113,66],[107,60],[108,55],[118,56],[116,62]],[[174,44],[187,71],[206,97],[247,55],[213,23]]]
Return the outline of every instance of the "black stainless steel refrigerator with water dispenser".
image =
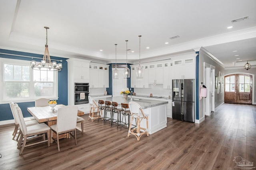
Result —
[[[195,122],[195,79],[172,80],[172,118]]]

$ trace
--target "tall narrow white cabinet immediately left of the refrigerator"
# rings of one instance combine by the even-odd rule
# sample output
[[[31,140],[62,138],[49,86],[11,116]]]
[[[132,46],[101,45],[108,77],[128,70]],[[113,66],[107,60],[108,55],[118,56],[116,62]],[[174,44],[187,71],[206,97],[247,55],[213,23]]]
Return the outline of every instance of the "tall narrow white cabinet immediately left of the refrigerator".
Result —
[[[172,62],[164,63],[164,80],[163,88],[172,89]]]

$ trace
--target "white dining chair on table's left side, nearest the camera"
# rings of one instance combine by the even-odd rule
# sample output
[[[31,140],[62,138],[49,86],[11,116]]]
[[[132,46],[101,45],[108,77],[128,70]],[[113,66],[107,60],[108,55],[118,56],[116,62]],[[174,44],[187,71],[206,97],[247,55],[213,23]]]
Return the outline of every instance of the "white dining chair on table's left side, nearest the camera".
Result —
[[[26,126],[26,123],[24,121],[24,117],[23,117],[20,107],[16,106],[15,109],[16,109],[16,113],[18,115],[20,130],[22,132],[19,143],[18,143],[19,144],[18,148],[20,148],[22,145],[22,147],[20,149],[20,154],[22,154],[25,147],[36,145],[39,143],[48,142],[48,147],[50,147],[50,132],[51,132],[50,127],[44,123],[38,123],[37,125]],[[47,133],[47,139],[45,139],[45,133]],[[32,137],[34,135],[43,135],[43,140],[36,141],[35,143],[27,144],[28,137]],[[23,143],[22,143],[22,141],[23,141]]]

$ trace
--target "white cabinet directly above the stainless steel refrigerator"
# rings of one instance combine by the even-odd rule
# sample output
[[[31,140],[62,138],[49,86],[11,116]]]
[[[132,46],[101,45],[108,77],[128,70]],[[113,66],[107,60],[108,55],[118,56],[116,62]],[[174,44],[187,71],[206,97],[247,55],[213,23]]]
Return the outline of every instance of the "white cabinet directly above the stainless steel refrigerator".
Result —
[[[195,57],[173,60],[172,79],[194,79]]]

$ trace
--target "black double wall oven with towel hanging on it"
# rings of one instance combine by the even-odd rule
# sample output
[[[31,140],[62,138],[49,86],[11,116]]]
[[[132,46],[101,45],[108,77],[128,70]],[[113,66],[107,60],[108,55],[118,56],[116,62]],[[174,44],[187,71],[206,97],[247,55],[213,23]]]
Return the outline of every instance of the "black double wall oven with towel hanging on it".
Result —
[[[89,103],[89,83],[75,83],[75,104]]]

